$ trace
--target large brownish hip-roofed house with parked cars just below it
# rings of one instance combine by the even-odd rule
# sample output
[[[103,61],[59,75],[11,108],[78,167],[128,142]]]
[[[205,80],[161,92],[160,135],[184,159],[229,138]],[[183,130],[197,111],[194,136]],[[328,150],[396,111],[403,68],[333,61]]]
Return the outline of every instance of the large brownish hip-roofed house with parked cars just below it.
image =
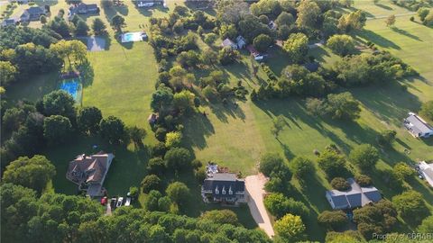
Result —
[[[78,184],[78,189],[87,192],[91,197],[103,195],[104,180],[115,156],[99,152],[96,155],[78,155],[69,162],[66,178]]]

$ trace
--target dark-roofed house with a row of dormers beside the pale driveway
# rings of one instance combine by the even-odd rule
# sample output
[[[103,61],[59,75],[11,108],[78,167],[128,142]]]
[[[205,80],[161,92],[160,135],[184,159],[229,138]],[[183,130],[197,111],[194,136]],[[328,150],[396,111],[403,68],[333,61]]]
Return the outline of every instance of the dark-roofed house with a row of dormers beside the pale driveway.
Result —
[[[207,177],[201,187],[204,202],[245,202],[245,182],[234,173],[216,173]]]

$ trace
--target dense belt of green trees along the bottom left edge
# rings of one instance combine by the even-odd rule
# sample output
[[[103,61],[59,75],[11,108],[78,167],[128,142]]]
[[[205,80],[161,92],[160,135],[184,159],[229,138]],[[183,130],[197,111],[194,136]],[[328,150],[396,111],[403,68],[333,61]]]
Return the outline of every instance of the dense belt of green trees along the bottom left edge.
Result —
[[[263,231],[239,226],[233,213],[226,211],[193,219],[122,207],[105,217],[102,206],[80,196],[44,193],[39,197],[15,184],[2,184],[0,193],[1,237],[8,242],[118,242],[118,238],[128,242],[271,242]]]

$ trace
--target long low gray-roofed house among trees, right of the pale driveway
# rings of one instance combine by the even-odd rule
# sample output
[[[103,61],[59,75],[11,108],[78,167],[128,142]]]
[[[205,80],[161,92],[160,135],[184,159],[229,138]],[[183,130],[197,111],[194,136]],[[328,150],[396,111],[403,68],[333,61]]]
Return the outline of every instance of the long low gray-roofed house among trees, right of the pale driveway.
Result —
[[[379,202],[382,199],[382,195],[376,187],[361,187],[353,178],[348,178],[347,182],[350,184],[350,189],[345,192],[327,191],[327,202],[333,210],[359,208],[370,202]]]

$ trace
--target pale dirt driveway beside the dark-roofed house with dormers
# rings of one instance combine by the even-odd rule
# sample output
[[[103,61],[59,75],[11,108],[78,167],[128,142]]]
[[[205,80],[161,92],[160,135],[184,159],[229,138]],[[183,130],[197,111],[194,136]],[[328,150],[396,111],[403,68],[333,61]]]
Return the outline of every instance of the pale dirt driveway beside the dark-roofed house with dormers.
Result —
[[[245,187],[249,194],[248,207],[250,207],[251,215],[253,215],[253,219],[259,227],[272,238],[275,233],[272,229],[271,219],[263,204],[263,195],[265,193],[263,186],[265,183],[266,178],[262,174],[249,175],[245,178]]]

